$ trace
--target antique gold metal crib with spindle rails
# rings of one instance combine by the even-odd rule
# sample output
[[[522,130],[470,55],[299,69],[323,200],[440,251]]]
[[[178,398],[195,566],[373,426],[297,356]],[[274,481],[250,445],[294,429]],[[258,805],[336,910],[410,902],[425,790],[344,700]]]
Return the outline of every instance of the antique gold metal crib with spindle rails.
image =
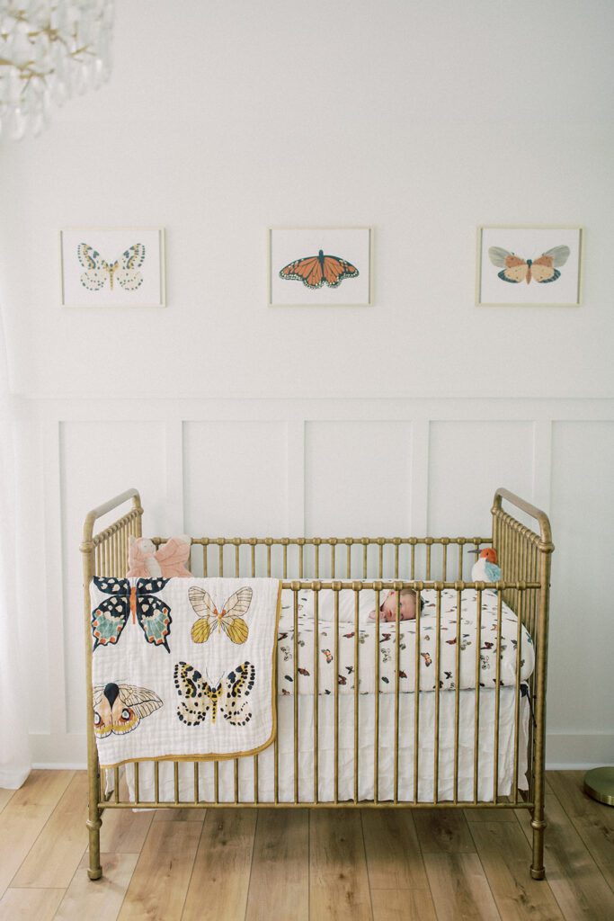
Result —
[[[94,533],[99,519],[109,516],[110,513],[131,503],[130,510],[110,525]],[[511,507],[514,511],[504,510]],[[220,797],[220,764],[213,765],[213,796],[203,799],[200,790],[200,772],[203,762],[191,762],[193,774],[192,794],[186,796],[181,790],[180,763],[173,762],[173,795],[172,799],[160,799],[159,764],[153,762],[153,796],[142,799],[139,789],[140,769],[142,764],[133,765],[133,799],[125,795],[121,785],[120,768],[101,770],[98,764],[98,752],[94,734],[92,713],[92,662],[91,662],[91,605],[89,598],[89,585],[94,576],[124,577],[128,568],[128,538],[142,536],[143,507],[141,498],[135,489],[127,490],[109,502],[94,508],[87,514],[83,530],[81,553],[83,558],[83,587],[84,587],[84,614],[86,636],[86,674],[87,674],[87,769],[89,778],[89,816],[87,828],[89,830],[89,869],[91,880],[98,880],[102,875],[100,866],[99,832],[101,816],[106,809],[203,809],[206,807],[224,806],[227,808],[277,808],[277,809],[335,809],[335,808],[462,808],[462,809],[528,809],[531,812],[533,828],[533,858],[530,867],[531,876],[536,880],[544,878],[545,869],[543,862],[544,829],[544,741],[545,741],[545,716],[546,716],[546,671],[548,658],[548,624],[549,624],[549,594],[550,594],[550,554],[553,551],[551,542],[550,521],[544,512],[530,505],[518,496],[505,489],[498,489],[492,504],[492,535],[490,537],[424,537],[424,538],[192,538],[191,539],[191,571],[194,575],[203,577],[280,577],[283,588],[292,592],[294,599],[294,686],[297,682],[297,641],[298,641],[298,593],[311,591],[314,593],[314,620],[315,634],[318,636],[318,612],[320,592],[331,589],[334,593],[334,645],[335,652],[340,637],[339,600],[342,592],[352,592],[355,621],[354,621],[354,662],[355,672],[353,690],[353,795],[351,798],[340,798],[339,789],[339,732],[340,732],[340,693],[339,685],[335,683],[333,692],[334,707],[334,775],[332,777],[332,795],[323,799],[319,793],[319,696],[311,694],[313,707],[313,731],[311,744],[313,786],[311,796],[307,799],[299,793],[299,722],[298,707],[299,694],[294,694],[292,702],[292,726],[278,729],[278,738],[274,741],[274,779],[272,798],[263,799],[259,787],[259,759],[261,755],[249,757],[252,761],[253,793],[249,798],[242,795],[243,787],[239,785],[239,761],[248,759],[234,759],[231,770],[234,772],[234,795],[230,801]],[[519,514],[522,513],[522,514]],[[533,527],[522,523],[520,518],[531,519]],[[534,529],[534,530],[533,530]],[[159,544],[164,538],[156,538]],[[504,581],[496,584],[466,581],[466,573],[470,571],[470,551],[480,551],[484,546],[492,545],[498,554],[502,567]],[[411,708],[413,710],[413,773],[412,795],[400,794],[400,726],[402,709],[400,706],[400,643],[395,644],[396,661],[393,673],[394,690],[394,751],[393,751],[393,794],[387,799],[380,799],[378,791],[379,778],[379,715],[381,693],[379,688],[380,668],[380,636],[376,631],[375,646],[375,694],[374,721],[375,741],[373,751],[370,752],[373,765],[373,797],[364,799],[359,795],[358,787],[358,744],[359,744],[359,668],[360,656],[358,649],[358,600],[359,594],[371,591],[379,606],[380,594],[392,589],[397,593],[397,620],[396,630],[399,631],[400,592],[402,589],[414,589],[417,595],[416,612],[416,641],[415,641],[415,684],[409,694],[413,695]],[[423,591],[429,589],[434,592],[436,599],[436,656],[435,669],[439,668],[440,649],[440,617],[442,592],[452,589],[457,593],[458,611],[460,610],[461,592],[464,589],[475,589],[477,593],[476,614],[478,618],[476,635],[480,636],[481,618],[481,593],[485,589],[496,588],[497,591],[497,635],[496,648],[502,637],[502,602],[508,604],[517,617],[517,648],[516,656],[516,686],[515,686],[515,731],[513,735],[513,763],[514,779],[509,796],[500,796],[498,790],[498,764],[499,764],[499,700],[500,681],[499,668],[501,656],[497,655],[496,677],[493,689],[484,690],[478,680],[480,667],[481,643],[476,643],[476,681],[475,688],[464,691],[463,694],[474,696],[474,726],[473,726],[473,790],[470,799],[458,795],[458,753],[461,739],[459,737],[459,683],[456,691],[441,691],[437,682],[434,692],[425,692],[420,688],[420,598]],[[460,616],[457,618],[457,638],[459,640]],[[521,625],[527,628],[535,647],[535,669],[532,675],[521,687],[520,679],[520,631]],[[314,642],[314,687],[319,688],[318,670],[318,642]],[[460,642],[456,647],[456,667],[459,673]],[[527,688],[528,700],[531,706],[531,720],[529,722],[527,739],[527,791],[518,789],[518,771],[520,755],[520,700],[523,690]],[[408,695],[408,692],[403,692]],[[419,798],[419,763],[418,752],[421,742],[421,724],[419,699],[423,694],[432,694],[434,698],[434,784],[433,797],[430,800]],[[439,769],[439,713],[440,705],[445,694],[454,695],[454,789],[450,799],[440,799],[438,796],[438,769]],[[493,784],[492,797],[479,798],[479,752],[478,739],[480,733],[480,698],[481,694],[492,694],[494,710],[493,734]],[[448,697],[449,701],[450,698]],[[361,711],[362,712],[362,711]],[[407,710],[406,710],[407,712]],[[294,789],[292,799],[284,801],[280,798],[280,736],[282,731],[292,734],[288,737],[288,744],[292,744],[294,762]],[[305,740],[303,740],[305,741]],[[147,764],[151,764],[147,763]],[[183,766],[183,765],[182,765]],[[110,793],[105,793],[107,787],[105,777],[111,774],[112,787]],[[185,786],[185,785],[184,785]],[[292,786],[292,785],[291,785]]]

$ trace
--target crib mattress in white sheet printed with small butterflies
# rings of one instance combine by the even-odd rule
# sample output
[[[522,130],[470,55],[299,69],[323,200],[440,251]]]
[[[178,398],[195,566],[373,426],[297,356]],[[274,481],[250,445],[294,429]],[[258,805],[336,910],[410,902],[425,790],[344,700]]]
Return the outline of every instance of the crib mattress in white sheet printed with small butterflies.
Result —
[[[314,648],[318,658],[319,694],[334,694],[335,684],[340,694],[353,694],[355,682],[355,628],[354,592],[339,593],[339,639],[335,647],[333,621],[334,592],[319,591],[319,624],[316,635],[314,596],[310,589],[298,592],[298,631],[295,643],[294,592],[284,590],[282,616],[278,635],[278,693],[284,696],[314,693]],[[440,615],[439,656],[436,636],[436,593],[423,591],[424,608],[420,624],[420,690],[467,690],[476,687],[492,688],[497,682],[497,659],[500,660],[500,686],[516,684],[518,647],[520,647],[519,678],[526,682],[535,666],[534,646],[523,624],[518,624],[516,614],[502,605],[501,642],[497,642],[497,593],[484,590],[481,594],[481,616],[478,611],[478,593],[465,589],[461,593],[460,622],[458,624],[457,592],[442,592]],[[365,589],[359,593],[358,655],[359,693],[373,694],[376,687],[376,647],[379,632],[379,692],[396,693],[397,630],[394,623],[376,624],[368,618],[375,608],[375,592]],[[347,618],[344,620],[342,618]],[[477,649],[478,621],[480,619],[480,649]],[[295,647],[297,668],[295,675]],[[415,691],[416,622],[401,621],[399,629],[399,690]],[[476,669],[476,664],[478,665]],[[459,667],[458,667],[459,666]],[[476,676],[476,671],[477,676]]]

